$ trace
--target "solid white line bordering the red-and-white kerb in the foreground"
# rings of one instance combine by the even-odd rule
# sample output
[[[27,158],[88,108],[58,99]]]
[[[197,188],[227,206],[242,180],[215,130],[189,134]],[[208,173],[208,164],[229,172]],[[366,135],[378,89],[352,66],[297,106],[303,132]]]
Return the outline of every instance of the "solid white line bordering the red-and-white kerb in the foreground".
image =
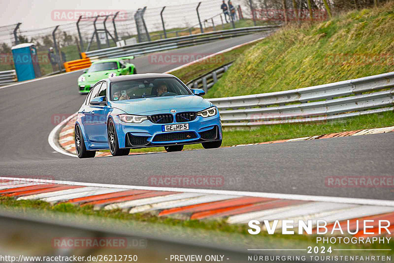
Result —
[[[122,189],[134,189],[134,190],[172,191],[172,192],[195,192],[195,193],[205,193],[205,194],[226,194],[226,195],[253,196],[253,197],[278,198],[278,199],[290,199],[290,200],[304,200],[304,201],[317,201],[317,202],[320,201],[320,202],[348,203],[348,204],[359,204],[359,205],[379,205],[379,206],[394,207],[393,200],[381,200],[381,199],[364,199],[364,198],[352,198],[352,197],[336,197],[336,196],[304,195],[304,194],[288,194],[288,193],[249,192],[249,191],[233,191],[233,190],[217,190],[217,189],[127,186],[127,185],[97,184],[97,183],[83,183],[83,182],[72,182],[72,181],[15,178],[15,177],[0,177],[0,179],[49,183],[49,184],[63,184],[70,186],[122,188]]]

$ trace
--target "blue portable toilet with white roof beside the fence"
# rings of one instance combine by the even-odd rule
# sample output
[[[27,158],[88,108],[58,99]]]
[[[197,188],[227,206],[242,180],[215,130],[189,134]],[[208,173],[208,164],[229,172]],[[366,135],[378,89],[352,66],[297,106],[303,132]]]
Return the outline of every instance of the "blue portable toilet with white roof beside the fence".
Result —
[[[12,57],[18,81],[33,79],[41,76],[37,59],[37,50],[33,43],[23,43],[12,48]]]

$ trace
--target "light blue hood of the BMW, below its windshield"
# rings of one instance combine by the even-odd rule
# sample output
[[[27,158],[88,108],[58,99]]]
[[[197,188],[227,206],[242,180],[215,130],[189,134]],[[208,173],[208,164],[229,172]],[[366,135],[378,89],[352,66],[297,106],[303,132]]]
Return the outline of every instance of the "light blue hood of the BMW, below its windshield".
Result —
[[[169,113],[170,110],[201,111],[212,104],[196,95],[179,95],[168,97],[141,98],[123,101],[111,101],[113,108],[120,109],[129,114],[156,114]]]

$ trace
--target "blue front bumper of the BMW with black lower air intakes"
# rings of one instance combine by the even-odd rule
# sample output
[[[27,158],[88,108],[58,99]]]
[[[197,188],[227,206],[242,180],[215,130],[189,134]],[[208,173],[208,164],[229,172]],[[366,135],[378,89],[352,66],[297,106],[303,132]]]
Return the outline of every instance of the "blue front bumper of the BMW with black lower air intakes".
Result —
[[[120,148],[146,148],[169,145],[198,144],[222,140],[220,115],[203,118],[197,116],[189,122],[153,123],[145,120],[141,123],[125,123],[114,117]],[[162,126],[189,123],[189,130],[163,132]]]

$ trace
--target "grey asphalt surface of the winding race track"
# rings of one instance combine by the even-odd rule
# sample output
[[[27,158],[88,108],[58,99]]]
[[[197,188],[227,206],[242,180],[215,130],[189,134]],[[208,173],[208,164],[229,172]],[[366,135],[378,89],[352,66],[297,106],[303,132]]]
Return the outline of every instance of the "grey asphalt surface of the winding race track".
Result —
[[[169,52],[214,53],[260,38],[249,35]],[[138,73],[176,66],[134,60]],[[212,150],[78,159],[47,143],[54,114],[75,113],[80,72],[0,89],[0,176],[52,176],[55,180],[149,186],[150,176],[214,175],[215,189],[394,200],[393,188],[336,188],[331,176],[393,176],[394,133]]]

